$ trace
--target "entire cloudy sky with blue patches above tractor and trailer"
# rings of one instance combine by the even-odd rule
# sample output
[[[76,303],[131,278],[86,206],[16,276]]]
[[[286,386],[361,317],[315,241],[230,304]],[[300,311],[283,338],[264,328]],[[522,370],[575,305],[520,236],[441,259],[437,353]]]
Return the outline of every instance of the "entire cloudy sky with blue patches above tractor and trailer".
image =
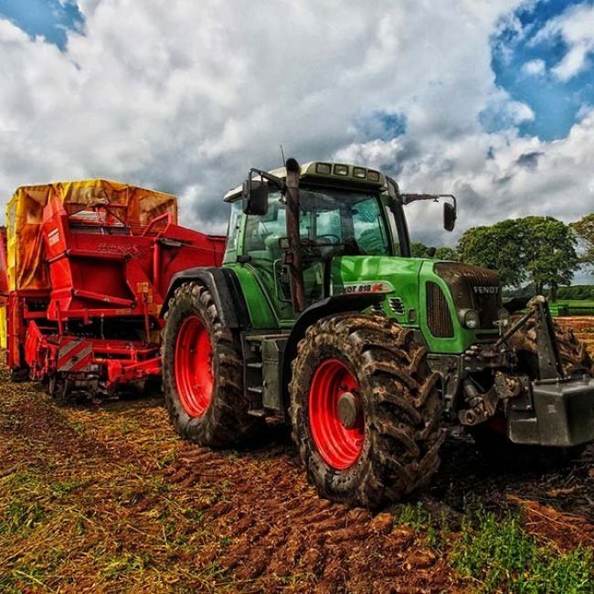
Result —
[[[16,186],[107,177],[221,196],[287,156],[453,193],[453,245],[504,217],[594,210],[594,0],[0,0],[0,207]]]

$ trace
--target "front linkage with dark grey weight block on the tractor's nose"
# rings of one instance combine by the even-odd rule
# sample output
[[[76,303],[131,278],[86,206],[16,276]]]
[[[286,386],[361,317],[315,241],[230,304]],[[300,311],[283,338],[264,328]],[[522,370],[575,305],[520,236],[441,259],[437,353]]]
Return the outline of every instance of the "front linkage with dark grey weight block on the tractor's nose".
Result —
[[[536,352],[514,345],[530,320]],[[503,417],[515,444],[571,448],[594,440],[594,378],[589,369],[564,365],[546,298],[534,297],[524,315],[513,323],[501,322],[500,330],[493,345],[473,345],[462,355],[461,424],[478,429]],[[481,392],[472,373],[489,367],[493,386]]]

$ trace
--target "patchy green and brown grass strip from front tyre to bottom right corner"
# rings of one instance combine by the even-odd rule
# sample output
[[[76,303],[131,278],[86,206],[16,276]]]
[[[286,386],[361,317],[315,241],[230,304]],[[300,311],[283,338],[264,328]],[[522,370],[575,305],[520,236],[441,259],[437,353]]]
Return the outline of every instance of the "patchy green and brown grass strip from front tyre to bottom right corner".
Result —
[[[405,506],[397,521],[414,528],[428,546],[442,552],[456,573],[470,578],[477,592],[514,594],[591,594],[594,551],[578,546],[560,551],[525,530],[521,510],[501,514],[469,505],[461,526],[452,530],[422,503]]]

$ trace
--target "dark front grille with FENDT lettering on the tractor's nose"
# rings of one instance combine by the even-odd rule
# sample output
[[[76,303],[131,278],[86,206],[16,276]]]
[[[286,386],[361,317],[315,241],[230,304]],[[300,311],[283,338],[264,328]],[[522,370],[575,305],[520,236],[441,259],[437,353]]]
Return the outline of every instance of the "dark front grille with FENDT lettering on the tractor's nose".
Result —
[[[434,270],[448,283],[458,311],[476,310],[483,330],[495,327],[501,307],[501,285],[493,270],[457,262],[440,262]]]

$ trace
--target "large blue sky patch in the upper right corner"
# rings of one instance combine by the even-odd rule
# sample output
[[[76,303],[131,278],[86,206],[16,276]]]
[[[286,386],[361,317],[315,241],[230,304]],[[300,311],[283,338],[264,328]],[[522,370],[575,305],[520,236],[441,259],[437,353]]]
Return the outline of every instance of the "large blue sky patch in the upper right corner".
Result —
[[[580,109],[594,104],[594,60],[576,76],[559,80],[550,69],[566,55],[567,44],[559,35],[536,37],[552,18],[576,5],[593,4],[593,0],[539,0],[518,10],[514,22],[493,38],[496,84],[535,112],[534,120],[520,123],[520,133],[544,141],[565,138]],[[491,124],[485,128],[493,129],[493,118],[485,123]]]

